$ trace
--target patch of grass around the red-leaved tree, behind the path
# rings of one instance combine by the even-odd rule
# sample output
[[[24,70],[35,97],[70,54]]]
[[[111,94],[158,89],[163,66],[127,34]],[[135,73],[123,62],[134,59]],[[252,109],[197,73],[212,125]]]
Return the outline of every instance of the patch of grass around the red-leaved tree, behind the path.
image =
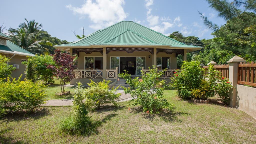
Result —
[[[41,81],[43,83],[43,81]],[[68,83],[69,84],[69,83]],[[59,80],[55,79],[55,84],[49,85],[45,88],[45,94],[47,95],[47,100],[49,99],[71,99],[72,95],[74,94],[74,87],[66,87],[64,88],[65,91],[70,91],[71,95],[66,96],[57,96],[55,95],[56,92],[60,92],[60,82]]]

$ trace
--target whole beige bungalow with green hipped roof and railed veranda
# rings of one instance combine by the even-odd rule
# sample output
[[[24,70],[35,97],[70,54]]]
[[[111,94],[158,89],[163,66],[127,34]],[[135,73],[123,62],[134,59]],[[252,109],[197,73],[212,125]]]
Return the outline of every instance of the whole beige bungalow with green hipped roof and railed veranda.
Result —
[[[75,79],[70,84],[89,79],[101,81],[118,79],[126,70],[140,76],[152,65],[167,69],[162,78],[168,80],[177,68],[177,55],[201,49],[186,45],[133,21],[121,21],[70,44],[55,46],[78,56]]]

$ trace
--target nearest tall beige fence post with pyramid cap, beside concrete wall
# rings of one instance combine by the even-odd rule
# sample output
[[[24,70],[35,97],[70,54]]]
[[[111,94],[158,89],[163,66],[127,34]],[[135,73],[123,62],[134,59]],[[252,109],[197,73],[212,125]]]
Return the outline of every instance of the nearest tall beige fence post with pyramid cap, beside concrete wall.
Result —
[[[244,62],[243,58],[239,56],[232,57],[227,63],[229,63],[229,81],[231,82],[231,85],[233,88],[230,90],[230,107],[236,107],[237,108],[237,82],[238,82],[238,64],[240,62]]]

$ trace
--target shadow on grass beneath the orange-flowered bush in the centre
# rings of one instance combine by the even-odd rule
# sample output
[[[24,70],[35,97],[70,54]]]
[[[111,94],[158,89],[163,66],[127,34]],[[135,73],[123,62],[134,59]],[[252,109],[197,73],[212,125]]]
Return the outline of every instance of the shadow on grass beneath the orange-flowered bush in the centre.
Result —
[[[182,120],[178,119],[178,116],[190,115],[189,113],[186,113],[186,112],[175,112],[174,110],[169,110],[169,109],[164,109],[163,111],[161,111],[160,114],[147,114],[146,112],[143,112],[142,107],[134,107],[132,108],[132,111],[135,114],[142,113],[143,118],[149,119],[150,121],[154,120],[154,118],[158,116],[166,122],[173,122],[173,121],[182,122]]]

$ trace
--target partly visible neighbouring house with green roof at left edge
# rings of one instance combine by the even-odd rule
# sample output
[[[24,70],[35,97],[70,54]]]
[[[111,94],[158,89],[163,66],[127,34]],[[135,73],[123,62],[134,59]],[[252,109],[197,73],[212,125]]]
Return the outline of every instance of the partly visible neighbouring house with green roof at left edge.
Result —
[[[10,39],[10,37],[0,32],[0,54],[9,57],[11,60],[8,64],[16,68],[12,71],[11,76],[18,78],[23,74],[22,79],[24,79],[26,66],[23,65],[22,62],[27,61],[27,56],[34,56],[34,54],[10,42]]]

